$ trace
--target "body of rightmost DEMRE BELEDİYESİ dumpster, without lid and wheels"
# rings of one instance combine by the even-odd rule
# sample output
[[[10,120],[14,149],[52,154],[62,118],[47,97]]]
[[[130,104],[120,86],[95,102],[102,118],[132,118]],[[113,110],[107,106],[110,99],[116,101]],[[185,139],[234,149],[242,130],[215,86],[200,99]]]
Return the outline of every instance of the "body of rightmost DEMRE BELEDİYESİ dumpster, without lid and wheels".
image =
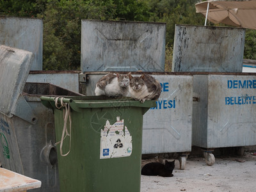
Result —
[[[204,148],[256,145],[256,76],[193,76],[193,140]]]

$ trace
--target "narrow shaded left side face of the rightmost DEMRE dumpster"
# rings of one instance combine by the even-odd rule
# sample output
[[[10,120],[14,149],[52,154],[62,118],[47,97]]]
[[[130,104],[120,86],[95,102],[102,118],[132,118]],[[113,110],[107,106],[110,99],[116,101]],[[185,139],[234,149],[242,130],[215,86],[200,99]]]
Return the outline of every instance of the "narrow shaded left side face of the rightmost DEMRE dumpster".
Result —
[[[193,76],[192,145],[207,148],[208,78]]]

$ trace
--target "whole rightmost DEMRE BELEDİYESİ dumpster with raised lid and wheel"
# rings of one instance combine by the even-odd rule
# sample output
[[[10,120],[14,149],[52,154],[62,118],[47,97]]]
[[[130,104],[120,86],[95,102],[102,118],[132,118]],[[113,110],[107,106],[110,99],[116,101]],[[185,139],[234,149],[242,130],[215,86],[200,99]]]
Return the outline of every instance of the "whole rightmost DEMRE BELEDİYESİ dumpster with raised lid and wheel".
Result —
[[[209,165],[214,148],[255,145],[255,76],[241,74],[244,38],[242,28],[175,27],[172,67],[195,72],[192,145],[203,148]]]

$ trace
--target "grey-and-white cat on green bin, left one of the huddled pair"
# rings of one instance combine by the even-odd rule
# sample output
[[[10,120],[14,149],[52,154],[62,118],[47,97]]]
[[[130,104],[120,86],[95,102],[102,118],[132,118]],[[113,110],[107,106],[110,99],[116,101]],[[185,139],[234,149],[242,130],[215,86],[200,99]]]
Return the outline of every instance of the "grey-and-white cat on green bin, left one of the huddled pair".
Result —
[[[95,88],[95,95],[106,95],[108,97],[125,97],[128,93],[129,77],[118,73],[101,77]]]

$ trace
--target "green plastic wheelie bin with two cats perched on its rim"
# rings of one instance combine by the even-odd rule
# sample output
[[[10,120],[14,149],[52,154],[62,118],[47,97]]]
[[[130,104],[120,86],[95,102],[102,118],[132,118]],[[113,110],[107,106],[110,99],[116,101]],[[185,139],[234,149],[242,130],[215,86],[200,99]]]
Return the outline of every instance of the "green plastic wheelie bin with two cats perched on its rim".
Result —
[[[128,97],[41,97],[54,112],[60,189],[140,191],[143,115],[156,106]]]

